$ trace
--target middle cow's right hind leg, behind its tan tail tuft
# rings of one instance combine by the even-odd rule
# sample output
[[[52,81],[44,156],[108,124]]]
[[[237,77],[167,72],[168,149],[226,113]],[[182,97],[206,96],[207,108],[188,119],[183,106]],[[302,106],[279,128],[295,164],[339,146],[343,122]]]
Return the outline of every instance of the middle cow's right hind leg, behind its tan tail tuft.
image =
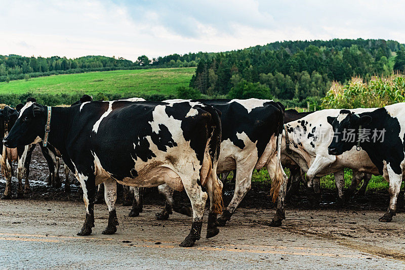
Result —
[[[279,163],[279,164],[277,164]],[[286,211],[284,209],[284,201],[286,198],[287,192],[287,182],[288,177],[284,170],[281,167],[281,162],[278,160],[276,156],[274,156],[269,163],[266,164],[267,171],[269,172],[270,178],[272,181],[275,181],[277,177],[281,177],[281,185],[280,189],[278,190],[278,197],[277,197],[277,210],[274,214],[273,219],[271,220],[269,226],[271,227],[278,227],[281,226],[281,222],[283,219],[286,219]]]

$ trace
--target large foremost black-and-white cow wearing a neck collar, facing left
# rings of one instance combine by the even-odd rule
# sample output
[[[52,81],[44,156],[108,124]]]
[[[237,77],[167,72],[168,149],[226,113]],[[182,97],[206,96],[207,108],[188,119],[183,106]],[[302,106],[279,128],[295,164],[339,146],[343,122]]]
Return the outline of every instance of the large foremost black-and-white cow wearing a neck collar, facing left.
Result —
[[[49,132],[45,132],[47,123]],[[46,136],[83,188],[86,219],[78,235],[92,232],[94,197],[100,183],[104,183],[109,209],[103,234],[116,232],[116,182],[184,188],[193,208],[193,223],[181,246],[192,246],[199,239],[208,193],[207,237],[218,234],[216,216],[222,210],[222,183],[216,170],[221,122],[211,106],[198,102],[110,101],[47,108],[28,102],[4,144],[29,145]]]

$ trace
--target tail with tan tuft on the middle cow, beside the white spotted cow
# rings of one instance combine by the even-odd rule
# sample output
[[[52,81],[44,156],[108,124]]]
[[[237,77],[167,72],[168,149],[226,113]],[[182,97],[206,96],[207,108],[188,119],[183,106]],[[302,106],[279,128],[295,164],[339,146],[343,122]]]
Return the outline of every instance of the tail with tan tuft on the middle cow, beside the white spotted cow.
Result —
[[[277,102],[279,105],[280,109],[280,115],[278,118],[278,128],[277,128],[277,160],[275,164],[275,174],[274,174],[274,179],[271,179],[271,189],[270,189],[270,195],[272,196],[273,202],[277,200],[278,193],[280,191],[280,187],[282,185],[282,182],[285,178],[285,172],[282,169],[281,166],[281,139],[282,139],[282,130],[284,129],[284,110],[285,107],[281,103]]]

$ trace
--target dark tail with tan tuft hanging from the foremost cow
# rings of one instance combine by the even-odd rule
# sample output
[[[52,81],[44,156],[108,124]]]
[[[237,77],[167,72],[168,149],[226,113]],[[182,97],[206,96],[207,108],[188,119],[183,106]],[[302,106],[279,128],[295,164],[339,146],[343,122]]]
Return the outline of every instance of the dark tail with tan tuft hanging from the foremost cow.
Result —
[[[210,107],[210,108],[208,108]],[[217,166],[219,152],[221,149],[221,136],[222,136],[222,126],[221,126],[221,112],[211,106],[204,108],[211,114],[211,137],[209,140],[209,152],[212,162],[212,171],[209,178],[211,179],[211,188],[213,193],[213,206],[212,211],[216,214],[221,214],[224,207],[222,200],[222,182],[217,176]]]

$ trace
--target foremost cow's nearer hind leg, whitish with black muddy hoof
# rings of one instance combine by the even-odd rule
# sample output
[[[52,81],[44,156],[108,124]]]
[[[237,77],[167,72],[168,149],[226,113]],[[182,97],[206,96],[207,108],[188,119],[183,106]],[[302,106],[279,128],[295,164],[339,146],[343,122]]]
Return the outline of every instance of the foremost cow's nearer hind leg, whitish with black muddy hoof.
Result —
[[[191,178],[188,178],[191,179]],[[197,184],[197,179],[182,181],[184,189],[191,201],[193,208],[193,223],[188,236],[180,243],[181,247],[192,247],[195,241],[200,239],[201,227],[203,226],[204,208],[207,201],[207,193],[203,192],[201,186]]]

